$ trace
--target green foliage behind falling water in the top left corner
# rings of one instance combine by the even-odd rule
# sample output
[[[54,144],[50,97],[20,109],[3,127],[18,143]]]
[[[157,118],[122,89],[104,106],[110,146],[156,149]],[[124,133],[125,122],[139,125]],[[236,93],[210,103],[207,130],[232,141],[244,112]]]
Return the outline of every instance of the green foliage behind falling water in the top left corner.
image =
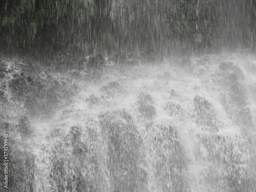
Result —
[[[0,3],[1,43],[18,49],[64,48],[86,25],[91,1],[6,0]]]

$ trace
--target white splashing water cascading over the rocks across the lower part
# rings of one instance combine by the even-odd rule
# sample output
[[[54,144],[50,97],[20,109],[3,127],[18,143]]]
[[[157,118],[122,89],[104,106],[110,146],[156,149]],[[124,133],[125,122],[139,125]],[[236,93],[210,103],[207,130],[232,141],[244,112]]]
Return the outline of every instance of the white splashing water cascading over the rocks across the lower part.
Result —
[[[20,191],[255,191],[255,57],[82,76],[51,117],[30,116],[33,136],[17,138],[30,164],[13,166],[33,170]]]

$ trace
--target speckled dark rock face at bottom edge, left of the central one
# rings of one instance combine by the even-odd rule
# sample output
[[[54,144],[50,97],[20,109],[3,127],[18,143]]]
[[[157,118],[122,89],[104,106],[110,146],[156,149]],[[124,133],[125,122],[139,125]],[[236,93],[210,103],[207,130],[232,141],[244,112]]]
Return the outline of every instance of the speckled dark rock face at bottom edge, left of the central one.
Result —
[[[101,182],[104,182],[104,178],[99,168],[98,135],[94,141],[83,142],[83,131],[84,127],[82,129],[81,126],[75,125],[70,127],[66,136],[56,136],[60,140],[52,146],[53,157],[49,175],[54,191],[102,191]],[[59,131],[55,129],[53,132]],[[87,130],[90,139],[93,138],[92,132],[88,133]]]

